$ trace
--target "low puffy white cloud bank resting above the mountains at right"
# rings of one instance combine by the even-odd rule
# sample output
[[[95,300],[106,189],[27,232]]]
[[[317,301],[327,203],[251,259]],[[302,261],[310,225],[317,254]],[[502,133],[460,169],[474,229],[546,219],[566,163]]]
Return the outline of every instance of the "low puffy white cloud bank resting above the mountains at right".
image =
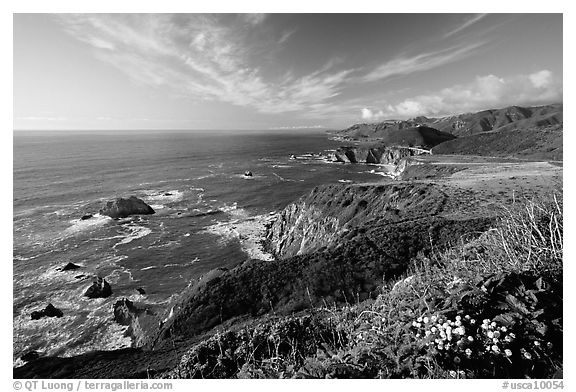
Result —
[[[385,108],[378,112],[378,118],[443,116],[509,105],[539,105],[561,101],[562,81],[548,70],[506,78],[486,75],[477,76],[468,84],[384,105]],[[374,113],[366,110],[361,111],[363,118]]]

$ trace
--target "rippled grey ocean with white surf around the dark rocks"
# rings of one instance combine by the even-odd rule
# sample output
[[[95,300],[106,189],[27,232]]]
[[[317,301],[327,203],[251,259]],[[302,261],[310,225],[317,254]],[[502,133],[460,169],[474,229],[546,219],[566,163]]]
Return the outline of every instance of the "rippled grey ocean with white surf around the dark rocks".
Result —
[[[117,300],[168,309],[207,271],[269,258],[262,222],[313,187],[383,179],[379,168],[328,162],[339,144],[310,130],[15,132],[14,363],[31,350],[129,347],[113,320]],[[156,214],[98,214],[131,195]],[[69,262],[81,268],[59,270]],[[83,296],[94,276],[112,296]],[[64,316],[31,320],[48,303]]]

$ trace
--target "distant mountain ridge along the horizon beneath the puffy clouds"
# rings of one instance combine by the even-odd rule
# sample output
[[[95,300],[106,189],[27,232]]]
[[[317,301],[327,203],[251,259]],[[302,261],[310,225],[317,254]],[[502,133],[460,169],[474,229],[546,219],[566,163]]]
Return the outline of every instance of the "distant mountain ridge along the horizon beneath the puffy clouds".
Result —
[[[509,106],[437,118],[420,116],[409,120],[354,124],[334,134],[349,140],[386,139],[391,132],[426,126],[460,137],[488,131],[550,126],[562,122],[563,104],[557,103],[533,107]]]

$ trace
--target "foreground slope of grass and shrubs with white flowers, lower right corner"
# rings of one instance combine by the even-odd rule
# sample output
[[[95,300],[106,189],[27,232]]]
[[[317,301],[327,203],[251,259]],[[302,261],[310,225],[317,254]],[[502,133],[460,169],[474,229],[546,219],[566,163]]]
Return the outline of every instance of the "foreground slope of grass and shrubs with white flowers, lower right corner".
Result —
[[[376,300],[266,316],[215,334],[163,376],[558,376],[562,218],[558,196],[516,201],[481,236],[418,254]]]

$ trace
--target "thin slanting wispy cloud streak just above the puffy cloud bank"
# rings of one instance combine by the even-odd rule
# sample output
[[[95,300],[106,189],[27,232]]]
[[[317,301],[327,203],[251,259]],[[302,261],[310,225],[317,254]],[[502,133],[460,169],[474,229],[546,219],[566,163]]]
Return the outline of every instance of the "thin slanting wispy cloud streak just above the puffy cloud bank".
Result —
[[[421,53],[410,57],[399,56],[376,67],[362,77],[362,80],[364,82],[373,82],[392,76],[408,75],[437,68],[474,54],[474,51],[482,45],[483,43],[474,43],[465,46],[454,46],[435,52]]]

